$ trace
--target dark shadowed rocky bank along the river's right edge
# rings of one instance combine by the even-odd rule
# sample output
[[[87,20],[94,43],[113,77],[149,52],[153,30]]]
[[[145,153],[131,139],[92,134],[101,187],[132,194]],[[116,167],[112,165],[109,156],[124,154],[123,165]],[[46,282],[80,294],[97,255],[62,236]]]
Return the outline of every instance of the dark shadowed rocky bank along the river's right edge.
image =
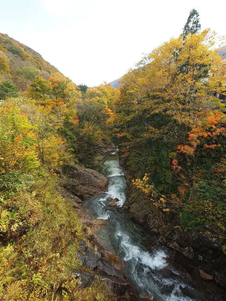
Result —
[[[121,162],[123,166],[123,162]],[[157,242],[170,247],[176,256],[179,252],[197,267],[202,279],[212,280],[226,288],[226,255],[222,251],[223,238],[215,229],[182,230],[173,214],[162,214],[150,200],[132,185],[132,176],[124,168],[129,195],[123,208],[130,218],[143,224],[155,235]]]

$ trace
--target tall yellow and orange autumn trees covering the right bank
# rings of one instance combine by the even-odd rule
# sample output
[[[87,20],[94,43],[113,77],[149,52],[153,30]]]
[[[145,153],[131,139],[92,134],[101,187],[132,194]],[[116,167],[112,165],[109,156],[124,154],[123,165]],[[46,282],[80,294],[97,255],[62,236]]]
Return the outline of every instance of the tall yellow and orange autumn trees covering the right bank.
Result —
[[[226,253],[226,117],[216,97],[226,95],[226,65],[216,34],[197,31],[165,42],[122,77],[113,131],[134,193],[145,198],[127,206],[144,212],[151,229],[155,212],[163,235],[218,237]]]

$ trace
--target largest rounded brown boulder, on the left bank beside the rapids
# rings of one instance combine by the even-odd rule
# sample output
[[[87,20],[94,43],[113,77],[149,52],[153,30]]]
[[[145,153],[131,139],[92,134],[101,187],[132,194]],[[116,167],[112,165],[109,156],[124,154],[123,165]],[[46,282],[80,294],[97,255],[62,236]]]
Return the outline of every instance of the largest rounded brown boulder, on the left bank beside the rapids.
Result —
[[[107,178],[99,172],[76,165],[63,165],[62,173],[63,179],[59,184],[78,198],[91,198],[105,191],[108,184]]]

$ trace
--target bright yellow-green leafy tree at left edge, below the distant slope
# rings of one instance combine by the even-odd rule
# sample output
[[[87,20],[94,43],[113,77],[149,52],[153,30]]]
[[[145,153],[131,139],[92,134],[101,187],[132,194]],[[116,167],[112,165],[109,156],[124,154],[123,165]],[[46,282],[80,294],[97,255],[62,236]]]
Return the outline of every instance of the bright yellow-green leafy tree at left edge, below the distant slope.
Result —
[[[0,108],[0,175],[29,172],[40,164],[35,151],[35,127],[15,105]]]

